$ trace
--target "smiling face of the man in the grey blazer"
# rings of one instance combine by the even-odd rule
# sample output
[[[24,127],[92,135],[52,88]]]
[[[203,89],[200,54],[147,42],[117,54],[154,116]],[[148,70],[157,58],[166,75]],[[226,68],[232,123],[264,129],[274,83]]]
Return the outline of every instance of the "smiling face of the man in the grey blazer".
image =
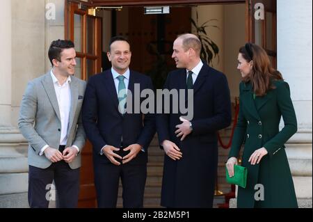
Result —
[[[63,49],[61,52],[61,61],[55,59],[54,67],[64,76],[73,75],[76,65],[75,58],[76,52],[74,48]]]

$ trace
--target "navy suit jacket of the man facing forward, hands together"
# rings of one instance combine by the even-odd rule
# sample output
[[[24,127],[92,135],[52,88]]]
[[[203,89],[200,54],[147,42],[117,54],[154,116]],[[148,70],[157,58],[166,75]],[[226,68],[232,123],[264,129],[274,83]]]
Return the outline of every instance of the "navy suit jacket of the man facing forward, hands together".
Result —
[[[153,89],[150,77],[138,72],[130,71],[129,86],[133,95],[134,84],[140,84],[141,90]],[[127,95],[129,98],[129,95]],[[127,100],[128,100],[127,98]],[[141,98],[143,102],[145,97]],[[133,107],[134,109],[135,107]],[[143,145],[145,152],[139,152],[129,164],[143,164],[147,162],[147,149],[155,134],[155,116],[152,113],[125,113],[118,111],[118,95],[116,93],[111,70],[90,77],[82,108],[83,127],[86,135],[93,144],[94,161],[109,162],[105,155],[100,155],[104,145],[120,148],[121,138],[124,147],[138,143]]]

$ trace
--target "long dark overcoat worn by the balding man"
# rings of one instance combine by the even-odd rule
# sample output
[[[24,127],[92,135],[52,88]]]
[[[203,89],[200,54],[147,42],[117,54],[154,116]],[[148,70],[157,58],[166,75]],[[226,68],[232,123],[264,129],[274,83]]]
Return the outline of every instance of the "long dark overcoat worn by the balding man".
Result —
[[[164,88],[185,89],[186,70],[168,74]],[[193,132],[180,141],[175,126],[182,113],[157,115],[160,143],[170,140],[181,149],[182,159],[165,155],[161,205],[211,207],[218,165],[216,132],[230,125],[230,90],[225,75],[204,64],[193,85]]]

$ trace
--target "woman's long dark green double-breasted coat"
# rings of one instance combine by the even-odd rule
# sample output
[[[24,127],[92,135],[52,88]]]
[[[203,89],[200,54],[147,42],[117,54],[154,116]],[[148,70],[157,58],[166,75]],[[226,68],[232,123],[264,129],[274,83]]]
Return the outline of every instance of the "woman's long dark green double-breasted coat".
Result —
[[[297,120],[290,98],[289,85],[273,81],[276,87],[253,100],[250,83],[240,84],[239,118],[229,157],[238,157],[244,143],[242,166],[248,168],[247,187],[239,187],[238,207],[298,207],[294,182],[284,150],[284,143],[297,131]],[[280,131],[280,118],[284,127]],[[252,166],[248,159],[259,148],[268,154]],[[263,184],[264,200],[255,200],[255,184]]]

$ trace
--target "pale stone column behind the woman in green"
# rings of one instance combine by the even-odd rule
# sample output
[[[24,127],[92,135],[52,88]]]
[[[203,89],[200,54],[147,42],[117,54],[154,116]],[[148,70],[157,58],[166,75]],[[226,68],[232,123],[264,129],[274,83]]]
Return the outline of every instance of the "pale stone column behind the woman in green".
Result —
[[[298,132],[287,156],[300,207],[312,207],[312,1],[278,0],[278,70],[291,89]]]

